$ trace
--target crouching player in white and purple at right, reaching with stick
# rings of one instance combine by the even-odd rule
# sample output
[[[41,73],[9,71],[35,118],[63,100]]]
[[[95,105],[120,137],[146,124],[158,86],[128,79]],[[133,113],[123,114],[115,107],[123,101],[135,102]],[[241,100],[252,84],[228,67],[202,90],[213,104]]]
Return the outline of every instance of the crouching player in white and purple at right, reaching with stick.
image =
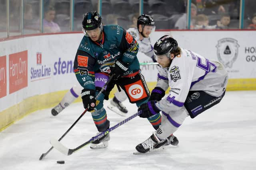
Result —
[[[159,102],[149,100],[138,108],[142,111],[140,117],[150,117],[162,111],[162,125],[136,146],[141,153],[166,145],[169,142],[167,137],[182,125],[186,117],[194,118],[218,104],[228,81],[222,63],[178,47],[177,41],[168,35],[155,43],[154,53],[160,67],[151,96],[164,97],[162,94],[168,87],[170,91]]]

